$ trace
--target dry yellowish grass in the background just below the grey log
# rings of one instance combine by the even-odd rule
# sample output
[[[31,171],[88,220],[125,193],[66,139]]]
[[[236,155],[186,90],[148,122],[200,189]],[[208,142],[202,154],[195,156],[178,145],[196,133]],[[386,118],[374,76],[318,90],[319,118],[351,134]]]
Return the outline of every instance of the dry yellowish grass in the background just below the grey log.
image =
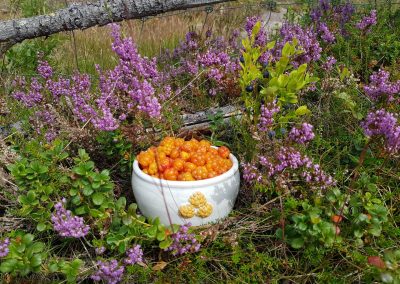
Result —
[[[226,7],[226,9],[221,7]],[[153,57],[161,54],[165,49],[174,48],[188,31],[204,33],[208,29],[213,29],[215,33],[227,36],[233,29],[243,26],[248,15],[257,13],[251,7],[247,9],[229,7],[232,6],[220,5],[208,16],[205,11],[186,11],[144,21],[128,20],[122,23],[122,31],[125,36],[132,37],[141,54]],[[76,57],[79,69],[89,73],[94,72],[95,63],[99,63],[104,68],[115,65],[116,59],[110,48],[112,40],[108,27],[75,31],[75,44],[72,33],[68,36],[71,40],[66,41],[54,54],[54,61],[60,70],[71,72],[75,69]]]

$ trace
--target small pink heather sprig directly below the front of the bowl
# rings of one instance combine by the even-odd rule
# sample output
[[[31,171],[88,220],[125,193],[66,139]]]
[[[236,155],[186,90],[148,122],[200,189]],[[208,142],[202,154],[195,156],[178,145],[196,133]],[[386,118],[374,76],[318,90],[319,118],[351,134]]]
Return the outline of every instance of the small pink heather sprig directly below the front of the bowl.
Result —
[[[201,245],[195,234],[189,233],[190,226],[190,223],[182,225],[178,232],[172,234],[172,244],[165,251],[170,251],[175,256],[199,251]]]

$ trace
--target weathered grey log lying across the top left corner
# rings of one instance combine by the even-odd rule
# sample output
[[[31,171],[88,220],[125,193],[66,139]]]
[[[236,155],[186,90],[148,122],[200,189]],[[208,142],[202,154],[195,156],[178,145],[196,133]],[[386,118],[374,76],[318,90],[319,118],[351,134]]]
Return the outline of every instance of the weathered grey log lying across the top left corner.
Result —
[[[234,0],[99,0],[49,15],[0,22],[0,55],[25,39]]]

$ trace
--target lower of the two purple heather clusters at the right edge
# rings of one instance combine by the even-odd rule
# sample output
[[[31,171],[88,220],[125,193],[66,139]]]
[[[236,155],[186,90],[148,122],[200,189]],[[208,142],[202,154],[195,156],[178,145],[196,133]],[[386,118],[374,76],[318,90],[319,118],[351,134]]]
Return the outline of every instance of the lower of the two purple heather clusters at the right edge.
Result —
[[[385,140],[385,149],[390,153],[400,150],[400,125],[397,116],[384,109],[370,112],[361,123],[366,136],[381,136]]]

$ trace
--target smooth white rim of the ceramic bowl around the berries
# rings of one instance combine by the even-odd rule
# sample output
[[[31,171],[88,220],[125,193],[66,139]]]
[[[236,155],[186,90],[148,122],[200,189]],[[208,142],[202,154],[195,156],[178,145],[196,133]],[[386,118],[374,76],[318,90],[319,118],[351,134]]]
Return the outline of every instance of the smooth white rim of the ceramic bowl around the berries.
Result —
[[[215,147],[215,146],[212,146]],[[215,147],[217,148],[217,147]],[[231,177],[233,177],[236,172],[239,170],[239,162],[237,158],[231,153],[229,155],[229,159],[232,161],[233,165],[232,167],[223,173],[222,175],[213,177],[213,178],[208,178],[208,179],[202,179],[202,180],[195,180],[195,181],[178,181],[178,180],[165,180],[165,179],[159,179],[156,177],[152,177],[148,174],[145,174],[139,167],[138,160],[135,159],[133,162],[133,170],[132,170],[132,177],[136,174],[139,178],[154,184],[154,185],[160,185],[160,186],[166,186],[166,187],[174,187],[174,188],[183,188],[183,189],[190,189],[193,187],[205,187],[205,186],[210,186],[217,184],[221,181],[225,181]]]

